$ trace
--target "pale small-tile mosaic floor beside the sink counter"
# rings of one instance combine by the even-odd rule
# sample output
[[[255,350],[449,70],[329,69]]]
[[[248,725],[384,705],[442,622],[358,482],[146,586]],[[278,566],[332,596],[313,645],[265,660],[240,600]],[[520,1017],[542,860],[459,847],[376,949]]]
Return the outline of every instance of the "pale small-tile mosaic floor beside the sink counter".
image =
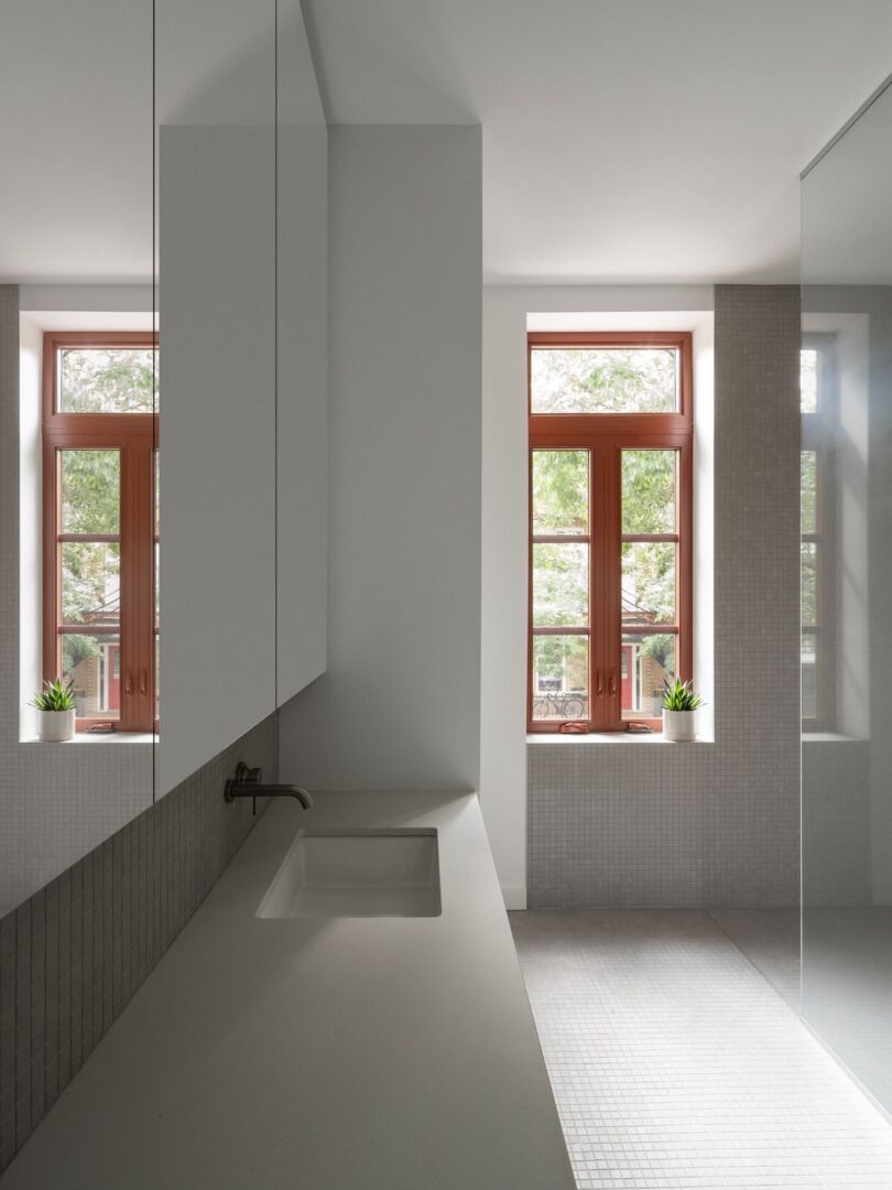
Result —
[[[708,913],[511,927],[580,1190],[892,1190],[892,1127]]]

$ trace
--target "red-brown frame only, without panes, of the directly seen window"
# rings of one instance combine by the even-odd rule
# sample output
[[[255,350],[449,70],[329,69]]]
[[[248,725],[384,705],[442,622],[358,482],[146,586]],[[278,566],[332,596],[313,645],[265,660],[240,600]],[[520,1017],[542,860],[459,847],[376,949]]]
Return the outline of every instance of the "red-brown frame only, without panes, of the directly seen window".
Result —
[[[532,353],[535,347],[673,347],[679,359],[679,408],[674,413],[533,413]],[[677,539],[676,626],[654,625],[641,635],[674,635],[676,665],[693,677],[693,347],[690,332],[530,331],[527,336],[529,418],[529,553],[527,630],[527,731],[555,732],[558,720],[533,719],[533,451],[590,452],[589,507],[589,708],[592,732],[627,729],[621,707],[622,602],[621,546],[628,540]],[[621,452],[677,450],[676,534],[623,534]],[[566,540],[566,538],[564,538]],[[535,634],[576,633],[574,628],[536,628]],[[636,718],[653,729],[661,720]]]

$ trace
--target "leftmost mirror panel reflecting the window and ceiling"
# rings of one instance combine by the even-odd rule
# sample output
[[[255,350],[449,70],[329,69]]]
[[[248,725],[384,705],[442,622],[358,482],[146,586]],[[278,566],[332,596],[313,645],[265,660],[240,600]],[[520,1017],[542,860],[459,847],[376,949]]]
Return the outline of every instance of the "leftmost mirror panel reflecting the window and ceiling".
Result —
[[[51,21],[4,7],[0,337],[18,369],[5,353],[0,915],[152,804],[134,619],[151,595],[151,0],[105,21],[78,0]],[[64,734],[64,713],[33,706],[55,679],[73,738],[44,743]]]

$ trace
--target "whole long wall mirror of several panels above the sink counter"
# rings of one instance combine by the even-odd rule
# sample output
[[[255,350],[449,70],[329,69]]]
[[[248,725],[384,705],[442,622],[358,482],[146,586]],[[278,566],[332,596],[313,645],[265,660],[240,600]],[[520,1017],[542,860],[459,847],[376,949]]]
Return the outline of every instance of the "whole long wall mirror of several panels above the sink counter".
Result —
[[[327,127],[300,2],[89,15],[11,0],[0,45],[0,913],[326,663]],[[75,688],[74,744],[34,743],[44,674]]]

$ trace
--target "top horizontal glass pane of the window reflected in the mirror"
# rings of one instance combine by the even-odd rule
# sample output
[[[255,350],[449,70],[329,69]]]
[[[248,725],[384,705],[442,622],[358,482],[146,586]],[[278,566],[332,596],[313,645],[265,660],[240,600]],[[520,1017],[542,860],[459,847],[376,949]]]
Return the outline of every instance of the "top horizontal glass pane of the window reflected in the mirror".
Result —
[[[157,355],[152,347],[61,347],[59,413],[153,413]]]

